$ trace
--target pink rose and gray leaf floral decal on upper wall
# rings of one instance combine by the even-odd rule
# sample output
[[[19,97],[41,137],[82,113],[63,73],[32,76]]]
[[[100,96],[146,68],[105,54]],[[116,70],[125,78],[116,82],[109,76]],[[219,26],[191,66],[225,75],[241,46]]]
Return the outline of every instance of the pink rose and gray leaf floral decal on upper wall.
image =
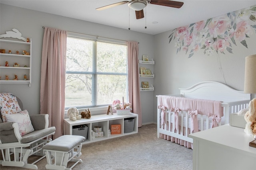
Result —
[[[256,6],[178,27],[171,31],[169,43],[175,41],[176,53],[185,51],[188,58],[199,50],[205,55],[233,53],[232,45],[241,43],[256,33]]]

